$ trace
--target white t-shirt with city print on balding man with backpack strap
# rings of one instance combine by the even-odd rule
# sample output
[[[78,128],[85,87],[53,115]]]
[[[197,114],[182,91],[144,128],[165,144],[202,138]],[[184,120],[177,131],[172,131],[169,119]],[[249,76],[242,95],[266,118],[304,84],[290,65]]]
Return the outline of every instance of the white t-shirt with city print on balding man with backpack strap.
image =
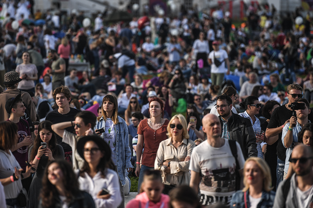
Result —
[[[222,147],[212,147],[204,141],[193,148],[189,170],[200,173],[200,203],[209,205],[217,202],[229,204],[236,189],[236,161],[228,140]],[[237,154],[239,170],[244,168],[244,156],[239,143]],[[240,179],[239,179],[240,180]]]

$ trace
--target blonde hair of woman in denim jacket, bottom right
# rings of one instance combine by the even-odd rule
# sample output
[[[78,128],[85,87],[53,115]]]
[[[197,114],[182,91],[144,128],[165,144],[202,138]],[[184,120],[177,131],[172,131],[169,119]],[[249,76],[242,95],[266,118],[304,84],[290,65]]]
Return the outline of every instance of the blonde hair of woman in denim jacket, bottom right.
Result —
[[[244,163],[244,189],[243,192],[249,189],[249,184],[247,184],[247,179],[245,177],[246,165],[249,161],[254,161],[260,168],[262,175],[263,175],[263,190],[269,192],[272,190],[271,183],[272,183],[272,176],[271,171],[269,169],[269,165],[263,160],[258,157],[250,157]]]

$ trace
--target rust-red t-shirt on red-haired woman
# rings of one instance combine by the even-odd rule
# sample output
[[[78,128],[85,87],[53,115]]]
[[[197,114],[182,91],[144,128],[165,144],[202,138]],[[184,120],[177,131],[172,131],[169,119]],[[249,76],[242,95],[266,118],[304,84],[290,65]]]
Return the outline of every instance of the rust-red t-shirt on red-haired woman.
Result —
[[[137,134],[143,135],[144,143],[145,143],[145,150],[142,153],[142,161],[141,164],[154,167],[154,161],[156,159],[156,151],[159,148],[159,144],[161,141],[167,139],[167,125],[169,120],[165,120],[164,124],[154,130],[147,123],[148,119],[144,119],[140,121]]]

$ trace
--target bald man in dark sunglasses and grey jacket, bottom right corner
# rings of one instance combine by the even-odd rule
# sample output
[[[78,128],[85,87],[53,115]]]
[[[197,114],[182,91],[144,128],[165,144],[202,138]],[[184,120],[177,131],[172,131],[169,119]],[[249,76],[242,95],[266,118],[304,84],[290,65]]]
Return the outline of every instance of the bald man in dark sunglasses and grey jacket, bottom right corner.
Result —
[[[277,189],[273,208],[313,207],[313,152],[299,144],[293,149],[290,166],[295,173],[282,181]]]

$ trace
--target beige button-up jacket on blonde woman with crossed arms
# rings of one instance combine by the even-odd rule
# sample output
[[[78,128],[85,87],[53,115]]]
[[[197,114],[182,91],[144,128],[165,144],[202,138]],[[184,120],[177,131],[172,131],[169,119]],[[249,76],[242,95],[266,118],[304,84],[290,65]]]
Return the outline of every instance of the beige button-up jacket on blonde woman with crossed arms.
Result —
[[[188,143],[187,143],[188,141]],[[195,147],[192,140],[183,139],[182,144],[176,149],[172,144],[172,137],[161,141],[156,152],[154,169],[162,172],[162,180],[166,185],[189,185],[189,162],[184,161],[185,157],[191,156],[192,149]],[[171,173],[164,172],[167,166],[162,165],[166,160],[170,160]]]

